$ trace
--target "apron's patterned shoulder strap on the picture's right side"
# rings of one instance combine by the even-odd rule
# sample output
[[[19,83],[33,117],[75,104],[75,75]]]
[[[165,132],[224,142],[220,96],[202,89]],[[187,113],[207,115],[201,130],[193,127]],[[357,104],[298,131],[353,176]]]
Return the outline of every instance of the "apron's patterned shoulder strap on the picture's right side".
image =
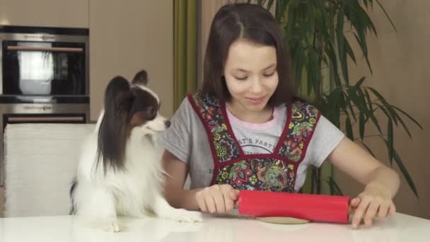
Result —
[[[279,155],[297,162],[303,158],[303,148],[306,147],[306,142],[314,131],[318,110],[312,105],[301,102],[293,103],[291,110],[289,130],[279,150]]]

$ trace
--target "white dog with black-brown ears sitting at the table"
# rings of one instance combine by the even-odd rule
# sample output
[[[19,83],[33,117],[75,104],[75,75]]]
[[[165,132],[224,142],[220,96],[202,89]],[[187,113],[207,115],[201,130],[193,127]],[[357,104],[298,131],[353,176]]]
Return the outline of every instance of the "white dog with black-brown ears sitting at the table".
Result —
[[[158,112],[160,100],[146,83],[144,70],[132,83],[122,76],[110,81],[71,185],[71,213],[106,231],[120,231],[120,214],[202,220],[200,212],[175,209],[163,198],[165,173],[156,136],[170,122]]]

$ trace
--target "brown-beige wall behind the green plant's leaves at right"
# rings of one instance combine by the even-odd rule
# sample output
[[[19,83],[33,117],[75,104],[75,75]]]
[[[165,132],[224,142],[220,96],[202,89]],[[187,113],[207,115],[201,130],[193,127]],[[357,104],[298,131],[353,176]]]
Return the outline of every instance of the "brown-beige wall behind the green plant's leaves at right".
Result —
[[[424,127],[422,131],[412,126],[412,122],[407,122],[412,127],[413,141],[402,129],[395,131],[395,149],[412,175],[420,197],[419,200],[414,197],[402,178],[395,204],[399,212],[430,219],[430,162],[426,154],[430,149],[430,1],[390,0],[383,1],[383,5],[397,27],[397,33],[390,28],[380,8],[375,6],[371,18],[378,29],[378,39],[368,40],[373,76],[362,61],[358,68],[351,69],[351,76],[354,79],[369,76],[365,82],[367,86],[376,88],[389,102],[406,110]],[[388,161],[385,144],[378,139],[369,141],[376,156]],[[397,166],[395,168],[399,171]],[[353,180],[342,174],[337,177],[349,195],[357,195],[361,191],[361,185]]]

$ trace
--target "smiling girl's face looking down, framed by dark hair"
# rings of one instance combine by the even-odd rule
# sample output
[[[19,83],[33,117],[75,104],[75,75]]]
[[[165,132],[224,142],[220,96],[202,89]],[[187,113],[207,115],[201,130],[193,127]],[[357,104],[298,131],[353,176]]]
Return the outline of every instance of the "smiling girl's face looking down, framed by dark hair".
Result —
[[[276,48],[236,40],[228,50],[224,76],[231,105],[245,112],[264,110],[279,82]]]

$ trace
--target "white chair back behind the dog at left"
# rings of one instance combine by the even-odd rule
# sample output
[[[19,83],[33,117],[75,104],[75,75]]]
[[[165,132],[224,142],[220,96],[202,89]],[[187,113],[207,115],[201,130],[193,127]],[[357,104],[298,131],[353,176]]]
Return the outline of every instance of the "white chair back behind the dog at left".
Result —
[[[79,150],[93,124],[7,125],[5,217],[69,214]]]

